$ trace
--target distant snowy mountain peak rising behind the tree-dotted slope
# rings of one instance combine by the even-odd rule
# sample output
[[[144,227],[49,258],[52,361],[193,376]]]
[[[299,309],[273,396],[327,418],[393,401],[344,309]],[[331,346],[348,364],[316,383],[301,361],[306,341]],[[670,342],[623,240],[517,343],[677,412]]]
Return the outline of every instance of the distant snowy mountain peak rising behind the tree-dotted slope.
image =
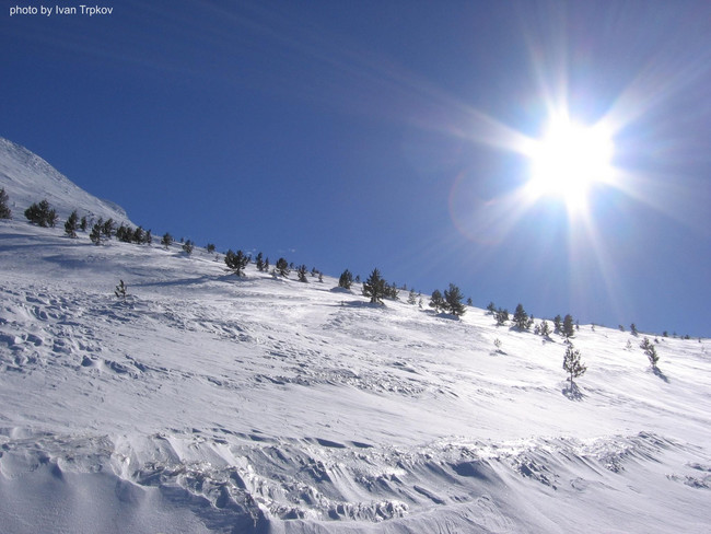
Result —
[[[77,210],[79,217],[130,223],[121,207],[90,195],[38,155],[1,137],[0,188],[10,197],[9,207],[15,219],[24,220],[25,209],[47,199],[65,219]]]

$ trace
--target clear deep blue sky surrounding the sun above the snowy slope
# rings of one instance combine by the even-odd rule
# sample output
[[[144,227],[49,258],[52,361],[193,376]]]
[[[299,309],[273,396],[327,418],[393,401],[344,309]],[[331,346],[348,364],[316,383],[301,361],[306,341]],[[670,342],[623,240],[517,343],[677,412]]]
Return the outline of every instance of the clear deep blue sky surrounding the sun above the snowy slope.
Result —
[[[3,8],[0,135],[154,233],[711,335],[708,1],[97,3]],[[524,194],[561,111],[613,125],[576,213]]]

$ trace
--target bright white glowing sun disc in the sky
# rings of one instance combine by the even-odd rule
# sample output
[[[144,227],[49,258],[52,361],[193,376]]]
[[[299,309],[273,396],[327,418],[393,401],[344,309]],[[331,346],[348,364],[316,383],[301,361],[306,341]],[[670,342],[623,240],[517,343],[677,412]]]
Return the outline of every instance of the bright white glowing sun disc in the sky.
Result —
[[[583,211],[596,183],[609,182],[614,143],[602,124],[585,126],[568,116],[549,120],[544,135],[529,143],[532,200],[561,199],[570,213]]]

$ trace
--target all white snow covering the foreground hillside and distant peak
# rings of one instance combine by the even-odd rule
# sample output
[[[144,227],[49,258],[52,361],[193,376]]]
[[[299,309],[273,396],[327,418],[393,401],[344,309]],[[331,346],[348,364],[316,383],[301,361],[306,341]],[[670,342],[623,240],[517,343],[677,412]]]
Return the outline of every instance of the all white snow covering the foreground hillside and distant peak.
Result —
[[[0,147],[11,207],[47,193],[60,214],[120,220]],[[2,532],[711,529],[708,339],[660,338],[655,373],[643,335],[581,325],[588,370],[571,392],[560,336],[482,310],[373,306],[331,277],[250,265],[237,278],[202,249],[95,246],[13,214],[0,221]]]

